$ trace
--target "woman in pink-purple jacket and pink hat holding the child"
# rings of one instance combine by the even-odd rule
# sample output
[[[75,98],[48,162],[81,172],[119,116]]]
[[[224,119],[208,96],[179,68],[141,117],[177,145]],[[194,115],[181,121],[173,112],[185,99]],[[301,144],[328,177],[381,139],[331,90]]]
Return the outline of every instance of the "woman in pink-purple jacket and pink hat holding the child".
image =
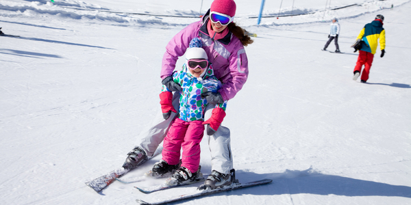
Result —
[[[213,65],[214,75],[223,83],[218,92],[207,92],[202,95],[209,102],[204,120],[210,123],[206,131],[212,155],[212,173],[204,182],[206,186],[203,187],[211,189],[231,184],[234,180],[229,128],[219,126],[214,129],[212,124],[218,124],[219,119],[213,118],[212,114],[216,112],[214,109],[216,104],[234,98],[247,81],[248,59],[244,46],[253,42],[245,34],[246,31],[233,22],[235,14],[236,3],[233,0],[214,0],[210,10],[200,21],[188,25],[171,39],[166,46],[166,53],[162,60],[160,75],[163,79],[162,84],[171,91],[181,91],[182,88],[173,81],[172,77],[175,64],[178,57],[184,55],[188,49],[190,40],[199,38],[203,42],[203,49],[208,55],[208,60]],[[175,92],[173,96],[173,105],[176,110],[178,110],[178,93]],[[142,159],[147,158],[147,154],[153,155],[164,139],[173,118],[175,118],[175,113],[171,113],[171,118],[166,121],[161,120],[153,124],[147,133],[142,133],[145,135],[142,137],[145,138],[139,146],[129,152],[123,167],[132,168],[133,165],[138,165]]]

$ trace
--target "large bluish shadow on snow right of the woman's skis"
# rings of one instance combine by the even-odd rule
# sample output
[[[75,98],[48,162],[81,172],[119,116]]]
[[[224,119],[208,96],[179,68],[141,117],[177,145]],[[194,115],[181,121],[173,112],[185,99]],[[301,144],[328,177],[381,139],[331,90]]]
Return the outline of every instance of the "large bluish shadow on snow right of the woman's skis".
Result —
[[[227,195],[282,195],[308,193],[315,195],[411,197],[411,187],[373,182],[343,176],[321,174],[312,168],[303,171],[286,170],[282,174],[236,172],[240,182],[271,179],[271,184],[240,189]],[[223,194],[223,193],[222,193]]]

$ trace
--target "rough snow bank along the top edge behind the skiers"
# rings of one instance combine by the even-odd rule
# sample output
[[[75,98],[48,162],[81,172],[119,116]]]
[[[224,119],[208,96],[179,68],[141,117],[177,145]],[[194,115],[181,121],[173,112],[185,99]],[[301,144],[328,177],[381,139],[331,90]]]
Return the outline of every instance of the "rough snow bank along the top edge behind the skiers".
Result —
[[[364,3],[353,3],[349,5],[337,5],[333,8],[301,8],[285,7],[281,10],[270,10],[266,8],[262,15],[262,25],[292,25],[301,23],[317,23],[328,21],[333,17],[340,19],[357,18],[370,12],[385,10],[390,8],[391,4],[401,6],[410,0],[392,0],[392,1],[367,1]],[[120,24],[137,24],[137,25],[159,25],[159,26],[176,26],[188,25],[199,20],[201,13],[193,10],[166,10],[158,14],[153,12],[124,12],[103,8],[100,5],[86,3],[84,1],[29,1],[14,2],[1,1],[0,10],[5,12],[0,16],[46,16],[49,18],[71,18],[74,20],[98,20],[99,23],[120,23]],[[303,16],[301,16],[303,15]],[[293,23],[284,23],[282,18],[295,16]],[[297,17],[296,17],[297,16]],[[249,27],[256,25],[258,11],[249,14],[237,14],[236,22],[240,25]],[[277,19],[279,17],[279,20]],[[177,19],[181,18],[181,19]]]

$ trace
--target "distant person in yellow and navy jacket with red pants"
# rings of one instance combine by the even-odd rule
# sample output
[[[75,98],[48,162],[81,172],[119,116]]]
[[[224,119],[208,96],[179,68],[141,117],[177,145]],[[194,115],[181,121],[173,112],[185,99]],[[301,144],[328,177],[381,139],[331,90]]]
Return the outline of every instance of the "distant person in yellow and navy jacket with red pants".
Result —
[[[380,57],[384,57],[385,54],[385,29],[382,27],[384,21],[384,16],[378,14],[375,16],[373,22],[368,23],[360,31],[358,39],[362,39],[360,54],[358,55],[356,68],[354,68],[353,80],[356,81],[360,76],[362,65],[364,70],[362,70],[361,83],[366,83],[369,79],[369,73],[371,65],[373,64],[374,54],[377,51],[378,39],[379,47],[381,49]]]

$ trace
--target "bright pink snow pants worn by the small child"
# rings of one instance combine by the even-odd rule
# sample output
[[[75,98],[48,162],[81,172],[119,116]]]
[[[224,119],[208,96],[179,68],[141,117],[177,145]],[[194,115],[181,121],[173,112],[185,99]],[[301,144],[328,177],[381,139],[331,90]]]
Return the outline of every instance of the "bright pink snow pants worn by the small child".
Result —
[[[185,122],[179,118],[171,124],[164,138],[162,159],[169,165],[177,165],[183,148],[182,167],[195,173],[200,165],[200,142],[203,139],[203,121]]]

